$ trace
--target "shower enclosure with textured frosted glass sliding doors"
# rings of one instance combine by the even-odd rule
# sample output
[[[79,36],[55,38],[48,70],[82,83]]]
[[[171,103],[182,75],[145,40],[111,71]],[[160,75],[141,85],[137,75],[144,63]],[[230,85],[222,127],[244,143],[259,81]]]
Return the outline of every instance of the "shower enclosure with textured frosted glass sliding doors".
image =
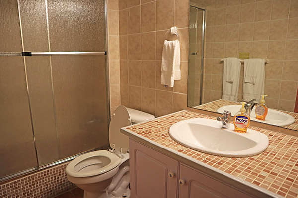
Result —
[[[105,13],[105,0],[0,0],[0,181],[108,147]]]

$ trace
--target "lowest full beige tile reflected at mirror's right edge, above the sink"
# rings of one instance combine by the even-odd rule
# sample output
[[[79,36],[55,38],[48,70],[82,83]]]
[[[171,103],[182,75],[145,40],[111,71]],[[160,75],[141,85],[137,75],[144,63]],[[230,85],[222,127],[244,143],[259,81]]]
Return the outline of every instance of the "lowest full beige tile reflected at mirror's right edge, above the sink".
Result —
[[[295,101],[298,82],[282,80],[280,99]]]

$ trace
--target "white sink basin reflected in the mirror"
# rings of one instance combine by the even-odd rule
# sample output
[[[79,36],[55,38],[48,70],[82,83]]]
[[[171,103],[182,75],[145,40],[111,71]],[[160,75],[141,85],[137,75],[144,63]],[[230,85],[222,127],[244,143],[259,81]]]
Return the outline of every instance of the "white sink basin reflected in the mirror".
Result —
[[[241,107],[242,105],[227,105],[219,108],[217,112],[224,113],[224,110],[227,110],[232,113],[232,116],[234,116],[240,110]],[[263,122],[266,124],[272,124],[276,126],[287,126],[293,124],[295,121],[294,117],[292,117],[291,115],[273,109],[268,109],[268,114],[265,120],[258,120],[256,118],[255,107],[253,107],[253,109],[250,111],[250,120]]]

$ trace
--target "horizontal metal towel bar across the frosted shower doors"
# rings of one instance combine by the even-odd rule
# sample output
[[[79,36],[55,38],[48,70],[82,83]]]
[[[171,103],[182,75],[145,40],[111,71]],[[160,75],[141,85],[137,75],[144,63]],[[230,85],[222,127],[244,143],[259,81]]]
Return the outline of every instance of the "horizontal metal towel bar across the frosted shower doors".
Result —
[[[103,52],[0,52],[1,56],[107,55]]]

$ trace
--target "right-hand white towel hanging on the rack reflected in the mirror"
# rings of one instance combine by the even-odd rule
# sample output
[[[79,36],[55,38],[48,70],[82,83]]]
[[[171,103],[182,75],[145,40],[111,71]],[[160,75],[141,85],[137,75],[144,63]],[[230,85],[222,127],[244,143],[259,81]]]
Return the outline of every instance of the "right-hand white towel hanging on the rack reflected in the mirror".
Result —
[[[260,99],[265,92],[265,60],[244,60],[243,101]]]

